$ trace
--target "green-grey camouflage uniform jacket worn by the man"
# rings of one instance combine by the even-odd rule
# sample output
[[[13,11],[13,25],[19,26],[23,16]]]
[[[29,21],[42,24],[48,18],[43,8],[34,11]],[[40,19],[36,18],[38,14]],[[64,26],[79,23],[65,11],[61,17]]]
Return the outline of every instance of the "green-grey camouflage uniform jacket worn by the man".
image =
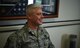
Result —
[[[31,30],[25,25],[9,36],[4,48],[54,48],[54,45],[44,28]]]

